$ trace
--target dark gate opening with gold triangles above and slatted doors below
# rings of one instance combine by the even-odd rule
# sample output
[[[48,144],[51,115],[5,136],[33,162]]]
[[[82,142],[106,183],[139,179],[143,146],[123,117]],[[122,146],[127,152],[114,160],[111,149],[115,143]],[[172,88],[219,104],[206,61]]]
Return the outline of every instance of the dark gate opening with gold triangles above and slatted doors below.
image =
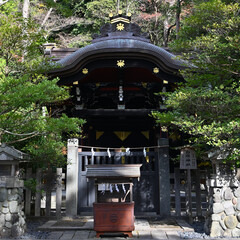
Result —
[[[94,180],[87,182],[86,179],[86,165],[89,164],[142,164],[141,179],[134,180],[135,213],[158,213],[158,149],[149,148],[157,146],[158,128],[154,120],[146,113],[141,114],[141,110],[135,110],[137,116],[131,112],[113,112],[108,116],[104,112],[106,110],[99,110],[99,115],[88,115],[84,129],[86,138],[81,140],[78,213],[91,212],[95,202]],[[94,156],[91,146],[94,146]],[[130,152],[126,152],[127,148]]]

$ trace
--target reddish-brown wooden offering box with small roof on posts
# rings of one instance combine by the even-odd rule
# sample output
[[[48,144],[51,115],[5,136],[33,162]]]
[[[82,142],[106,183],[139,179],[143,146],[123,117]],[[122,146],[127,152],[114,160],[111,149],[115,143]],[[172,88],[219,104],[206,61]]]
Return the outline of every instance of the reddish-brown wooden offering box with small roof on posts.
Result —
[[[141,164],[88,165],[87,177],[95,179],[93,204],[96,237],[121,233],[132,237],[134,202],[132,178],[140,177]]]

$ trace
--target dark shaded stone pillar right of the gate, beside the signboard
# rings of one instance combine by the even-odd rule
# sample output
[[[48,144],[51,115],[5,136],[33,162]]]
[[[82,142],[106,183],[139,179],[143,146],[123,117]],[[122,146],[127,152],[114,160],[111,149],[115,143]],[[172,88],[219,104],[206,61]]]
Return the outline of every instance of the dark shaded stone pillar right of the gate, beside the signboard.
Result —
[[[169,140],[159,138],[158,146],[159,211],[166,217],[170,216]]]

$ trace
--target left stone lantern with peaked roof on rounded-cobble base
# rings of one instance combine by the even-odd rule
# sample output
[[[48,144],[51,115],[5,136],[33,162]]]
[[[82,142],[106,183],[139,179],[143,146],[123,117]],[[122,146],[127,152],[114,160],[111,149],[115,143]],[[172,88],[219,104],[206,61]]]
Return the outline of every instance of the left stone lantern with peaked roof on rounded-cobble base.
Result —
[[[0,238],[17,237],[26,230],[23,210],[23,186],[17,173],[24,154],[13,147],[0,145]]]

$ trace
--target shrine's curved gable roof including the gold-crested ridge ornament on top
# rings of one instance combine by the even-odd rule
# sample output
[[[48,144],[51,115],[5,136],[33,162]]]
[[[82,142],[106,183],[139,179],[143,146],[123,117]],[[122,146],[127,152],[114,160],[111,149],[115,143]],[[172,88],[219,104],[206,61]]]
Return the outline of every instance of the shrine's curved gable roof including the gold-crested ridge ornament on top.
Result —
[[[119,24],[121,31],[118,30]],[[159,66],[162,71],[172,74],[187,67],[187,63],[178,60],[175,55],[149,43],[147,34],[141,33],[138,25],[130,23],[129,17],[113,17],[111,24],[105,24],[101,28],[101,34],[94,38],[92,44],[57,61],[58,67],[50,74],[71,76],[91,61],[118,56],[145,59]]]

